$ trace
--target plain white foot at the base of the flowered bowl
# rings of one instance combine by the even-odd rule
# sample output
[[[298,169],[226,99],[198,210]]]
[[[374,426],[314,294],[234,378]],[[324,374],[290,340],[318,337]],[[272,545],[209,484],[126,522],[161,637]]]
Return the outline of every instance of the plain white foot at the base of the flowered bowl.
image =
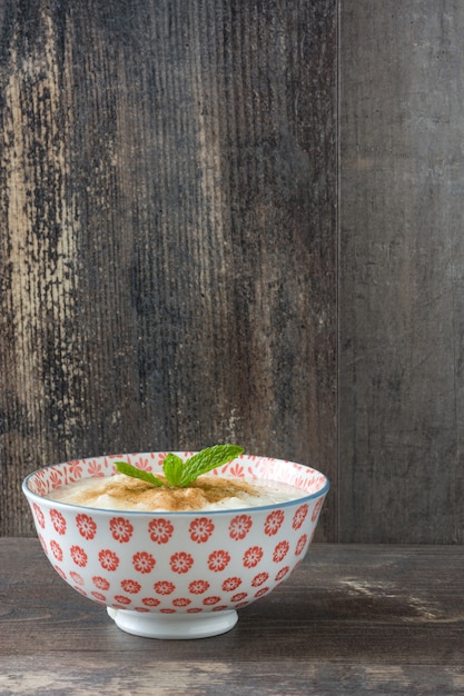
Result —
[[[206,614],[160,614],[107,608],[108,615],[121,630],[144,638],[186,639],[209,638],[227,633],[236,625],[235,609]]]

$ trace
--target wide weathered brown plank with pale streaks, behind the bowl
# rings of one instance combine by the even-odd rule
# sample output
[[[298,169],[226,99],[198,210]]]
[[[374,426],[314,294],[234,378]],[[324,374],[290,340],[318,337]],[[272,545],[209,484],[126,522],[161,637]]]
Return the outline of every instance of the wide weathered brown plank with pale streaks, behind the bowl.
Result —
[[[0,535],[77,457],[336,478],[336,58],[335,0],[1,3]]]

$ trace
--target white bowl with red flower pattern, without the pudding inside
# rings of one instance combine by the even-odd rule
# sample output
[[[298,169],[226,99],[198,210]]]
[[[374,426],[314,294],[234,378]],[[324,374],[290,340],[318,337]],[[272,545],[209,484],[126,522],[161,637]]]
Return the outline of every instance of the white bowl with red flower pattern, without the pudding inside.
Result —
[[[194,453],[176,453],[184,459]],[[272,479],[299,489],[292,501],[214,511],[121,511],[48,498],[69,483],[116,473],[126,460],[155,474],[166,453],[66,461],[27,476],[43,551],[78,593],[105,605],[116,625],[150,638],[204,638],[230,630],[237,610],[265,597],[298,567],[327,495],[316,469],[240,455],[209,476]]]

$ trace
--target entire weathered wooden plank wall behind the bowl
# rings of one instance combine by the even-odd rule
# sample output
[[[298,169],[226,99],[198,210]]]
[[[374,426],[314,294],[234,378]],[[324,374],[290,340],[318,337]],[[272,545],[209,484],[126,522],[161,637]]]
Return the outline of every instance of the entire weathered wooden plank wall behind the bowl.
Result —
[[[234,440],[319,539],[462,543],[457,0],[0,2],[0,534],[55,461]]]

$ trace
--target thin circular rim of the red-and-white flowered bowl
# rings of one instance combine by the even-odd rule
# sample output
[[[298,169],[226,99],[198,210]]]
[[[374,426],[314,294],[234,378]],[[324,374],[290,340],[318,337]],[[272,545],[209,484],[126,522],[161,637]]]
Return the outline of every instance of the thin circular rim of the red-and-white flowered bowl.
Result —
[[[127,456],[135,456],[135,455],[140,455],[144,456],[146,454],[155,454],[155,455],[165,455],[168,454],[168,451],[172,451],[172,450],[159,450],[159,451],[151,451],[151,453],[126,453],[126,454],[117,454],[117,455],[97,455],[93,457],[85,457],[82,459],[77,459],[79,461],[91,461],[95,459],[105,459],[105,458],[109,458],[109,459],[113,459],[113,458],[119,458],[119,457],[127,457]],[[178,450],[175,454],[185,454],[187,450]],[[190,453],[190,450],[188,450],[188,454],[195,454],[195,453]],[[21,489],[23,495],[26,496],[26,498],[30,501],[33,503],[40,503],[41,505],[47,504],[47,505],[52,505],[53,508],[57,509],[63,509],[63,510],[71,510],[71,509],[79,509],[79,510],[92,510],[93,514],[98,513],[98,514],[103,514],[103,515],[136,515],[137,517],[150,517],[152,518],[158,517],[158,516],[172,516],[172,517],[185,517],[185,516],[195,516],[198,517],[198,515],[214,515],[216,516],[220,516],[220,515],[237,515],[237,514],[245,514],[245,513],[250,513],[254,510],[269,510],[269,509],[276,509],[276,508],[283,508],[283,507],[292,507],[295,505],[303,505],[304,503],[308,503],[309,500],[315,500],[318,499],[320,497],[325,497],[328,493],[328,490],[330,489],[330,481],[327,478],[327,476],[325,474],[323,474],[322,471],[319,471],[318,469],[315,469],[314,467],[309,467],[303,464],[299,464],[297,461],[293,461],[290,459],[279,459],[276,457],[267,457],[267,456],[261,456],[261,455],[248,455],[246,453],[244,453],[243,455],[239,455],[236,459],[239,460],[240,458],[250,458],[250,459],[269,459],[273,460],[274,463],[277,464],[283,464],[283,465],[296,465],[297,467],[302,467],[302,469],[309,469],[313,474],[316,474],[318,476],[320,476],[324,480],[324,485],[316,490],[315,493],[305,493],[305,495],[298,497],[298,498],[293,498],[292,500],[285,500],[283,503],[268,503],[266,505],[256,505],[256,506],[248,506],[248,507],[236,507],[236,508],[224,508],[220,510],[121,510],[118,508],[101,508],[101,507],[92,507],[90,505],[77,505],[76,503],[66,503],[63,500],[53,500],[52,498],[48,498],[47,496],[41,496],[37,493],[34,493],[33,490],[31,490],[29,488],[29,481],[37,476],[39,473],[41,471],[47,471],[48,469],[52,469],[52,468],[57,468],[57,467],[61,467],[61,466],[66,466],[68,464],[70,464],[70,461],[76,461],[76,459],[69,459],[66,461],[60,461],[58,464],[50,464],[47,465],[45,467],[39,467],[38,469],[36,469],[34,471],[31,471],[30,474],[28,474],[21,484]],[[213,471],[217,471],[219,470],[221,467],[218,467],[217,469],[213,469]],[[83,480],[87,478],[98,478],[98,477],[92,477],[92,476],[85,476],[78,480]],[[227,476],[225,476],[225,478],[227,478]],[[235,477],[229,477],[229,478],[235,478]],[[244,477],[246,478],[246,477]],[[248,479],[247,479],[248,480]],[[257,478],[257,480],[273,480],[273,479],[259,479]],[[284,483],[284,481],[283,481]]]

